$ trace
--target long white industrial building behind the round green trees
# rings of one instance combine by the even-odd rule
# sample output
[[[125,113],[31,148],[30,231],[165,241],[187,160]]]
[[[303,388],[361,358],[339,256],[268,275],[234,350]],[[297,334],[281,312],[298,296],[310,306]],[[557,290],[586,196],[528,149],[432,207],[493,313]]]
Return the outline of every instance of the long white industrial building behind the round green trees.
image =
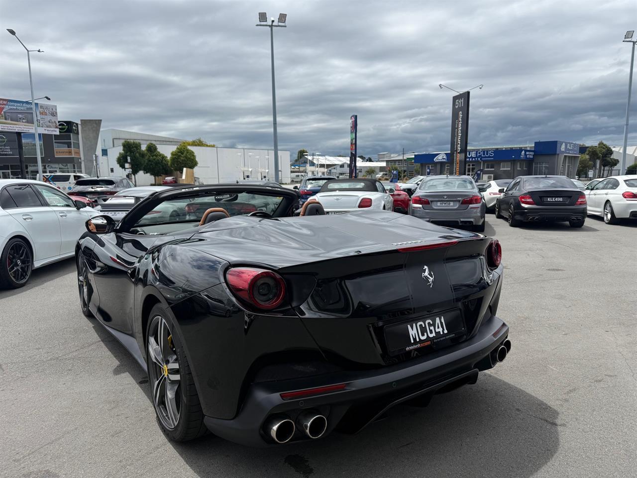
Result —
[[[121,129],[100,131],[97,156],[101,176],[124,176],[127,171],[117,165],[117,156],[122,152],[124,140],[140,141],[145,148],[148,143],[157,145],[157,149],[170,157],[176,147],[184,140],[168,138],[154,134],[135,133]],[[275,179],[274,151],[254,148],[217,148],[189,146],[197,156],[195,177],[203,184],[235,182],[241,179]],[[290,182],[290,152],[279,150],[279,182]],[[153,184],[151,175],[139,173],[138,185]]]

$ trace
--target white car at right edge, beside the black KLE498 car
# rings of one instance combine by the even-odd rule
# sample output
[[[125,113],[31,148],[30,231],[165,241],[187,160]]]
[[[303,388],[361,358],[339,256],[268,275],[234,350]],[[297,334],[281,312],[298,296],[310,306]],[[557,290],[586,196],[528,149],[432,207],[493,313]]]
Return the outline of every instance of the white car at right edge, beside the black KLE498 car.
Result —
[[[637,176],[612,176],[586,189],[588,214],[599,215],[606,224],[637,219]]]

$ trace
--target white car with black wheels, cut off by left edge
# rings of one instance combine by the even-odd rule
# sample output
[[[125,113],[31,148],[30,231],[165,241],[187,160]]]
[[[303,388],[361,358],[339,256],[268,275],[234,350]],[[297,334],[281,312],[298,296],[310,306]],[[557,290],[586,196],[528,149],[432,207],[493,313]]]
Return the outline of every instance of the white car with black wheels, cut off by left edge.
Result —
[[[98,214],[44,182],[0,179],[0,287],[22,287],[32,270],[73,257]]]

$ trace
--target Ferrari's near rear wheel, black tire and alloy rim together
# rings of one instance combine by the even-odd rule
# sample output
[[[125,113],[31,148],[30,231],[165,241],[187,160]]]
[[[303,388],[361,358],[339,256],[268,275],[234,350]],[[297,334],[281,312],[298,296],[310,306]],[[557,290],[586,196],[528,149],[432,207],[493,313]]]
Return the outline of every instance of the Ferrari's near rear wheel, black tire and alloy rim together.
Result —
[[[148,384],[159,428],[175,442],[201,437],[208,429],[203,423],[199,395],[175,322],[161,304],[152,308],[149,317]]]

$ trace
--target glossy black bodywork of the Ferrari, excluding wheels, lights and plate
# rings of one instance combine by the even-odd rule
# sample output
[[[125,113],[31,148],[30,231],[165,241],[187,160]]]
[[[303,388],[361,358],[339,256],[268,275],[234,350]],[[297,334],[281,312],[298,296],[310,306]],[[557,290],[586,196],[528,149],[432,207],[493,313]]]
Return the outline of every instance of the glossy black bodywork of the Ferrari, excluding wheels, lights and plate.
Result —
[[[487,264],[485,236],[380,210],[292,217],[296,192],[264,186],[250,189],[285,199],[273,219],[234,216],[167,235],[126,232],[163,199],[239,187],[159,192],[115,232],[85,233],[78,242],[90,270],[91,312],[142,364],[150,309],[168,308],[215,433],[267,445],[269,416],[294,418],[308,407],[326,414],[328,431],[357,431],[394,403],[475,381],[478,370],[494,366],[508,327],[496,317],[503,266]],[[278,273],[284,305],[255,311],[237,300],[225,282],[236,266]],[[461,317],[453,337],[389,349],[387,327],[415,328],[450,310]],[[280,396],[334,383],[347,385],[304,402]]]

